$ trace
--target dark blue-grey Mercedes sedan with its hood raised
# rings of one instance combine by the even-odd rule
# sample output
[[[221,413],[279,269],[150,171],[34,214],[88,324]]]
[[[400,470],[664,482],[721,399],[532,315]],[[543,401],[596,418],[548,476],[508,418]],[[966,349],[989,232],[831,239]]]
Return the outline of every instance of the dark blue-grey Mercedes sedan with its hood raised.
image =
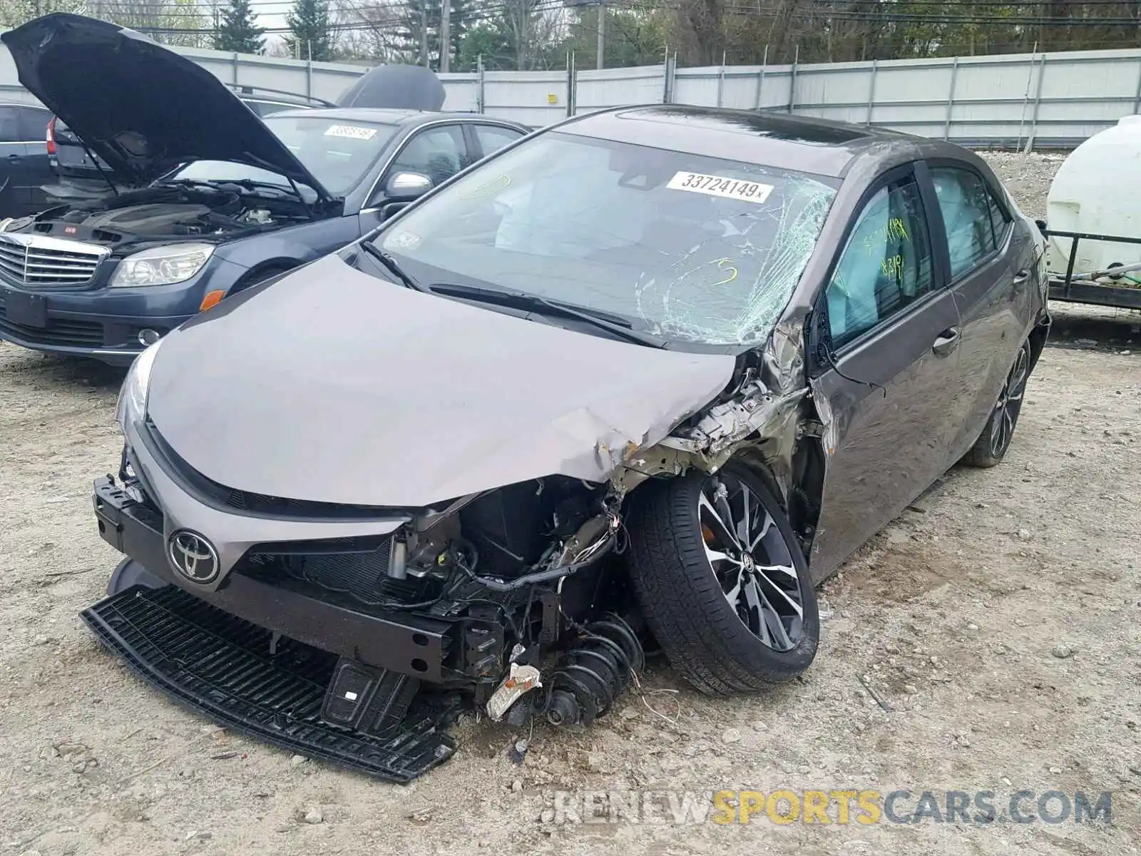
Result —
[[[353,106],[258,116],[139,33],[52,14],[0,37],[19,80],[110,168],[108,193],[0,223],[0,339],[129,363],[228,294],[361,237],[527,129],[437,111],[427,68]]]

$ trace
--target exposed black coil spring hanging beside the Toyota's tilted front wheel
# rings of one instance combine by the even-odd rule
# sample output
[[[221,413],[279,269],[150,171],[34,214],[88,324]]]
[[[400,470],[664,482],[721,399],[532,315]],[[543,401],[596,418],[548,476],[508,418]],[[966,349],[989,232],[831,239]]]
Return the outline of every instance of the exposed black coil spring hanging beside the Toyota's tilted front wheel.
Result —
[[[580,631],[548,685],[542,709],[551,725],[590,725],[646,665],[641,643],[617,615],[592,621]]]

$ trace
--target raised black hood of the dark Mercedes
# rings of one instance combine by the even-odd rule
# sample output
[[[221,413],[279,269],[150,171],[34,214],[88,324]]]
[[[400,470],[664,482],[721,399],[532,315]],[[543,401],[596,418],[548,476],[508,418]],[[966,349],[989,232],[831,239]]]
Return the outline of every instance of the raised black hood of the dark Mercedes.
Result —
[[[149,184],[188,161],[234,161],[329,197],[220,80],[133,30],[54,13],[0,40],[19,82],[132,184]]]

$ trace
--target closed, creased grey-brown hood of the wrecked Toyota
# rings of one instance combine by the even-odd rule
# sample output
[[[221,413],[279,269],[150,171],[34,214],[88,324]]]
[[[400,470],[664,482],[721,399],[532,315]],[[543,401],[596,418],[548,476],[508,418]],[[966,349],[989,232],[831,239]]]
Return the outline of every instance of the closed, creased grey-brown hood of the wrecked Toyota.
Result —
[[[420,508],[553,474],[604,481],[734,366],[426,294],[329,256],[170,333],[148,413],[227,487]]]

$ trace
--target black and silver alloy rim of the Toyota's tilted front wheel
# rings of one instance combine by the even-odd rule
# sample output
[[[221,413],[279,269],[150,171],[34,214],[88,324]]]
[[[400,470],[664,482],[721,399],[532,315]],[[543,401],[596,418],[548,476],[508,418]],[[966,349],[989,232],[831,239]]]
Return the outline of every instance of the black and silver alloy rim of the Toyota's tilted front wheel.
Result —
[[[780,528],[748,484],[710,477],[697,500],[702,547],[726,600],[748,631],[774,651],[803,635],[801,581]]]

